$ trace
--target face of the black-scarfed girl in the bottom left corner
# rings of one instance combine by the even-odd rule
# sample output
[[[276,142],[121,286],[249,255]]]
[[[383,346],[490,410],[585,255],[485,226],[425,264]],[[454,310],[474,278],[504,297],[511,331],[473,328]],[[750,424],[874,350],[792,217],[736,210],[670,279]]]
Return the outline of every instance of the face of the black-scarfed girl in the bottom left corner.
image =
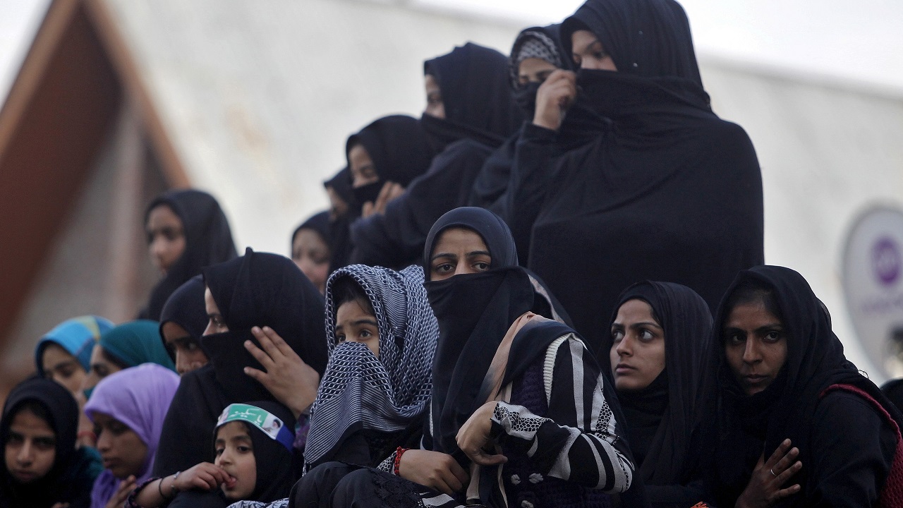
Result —
[[[56,432],[31,410],[22,409],[9,426],[4,458],[16,482],[40,480],[50,473],[56,460]]]

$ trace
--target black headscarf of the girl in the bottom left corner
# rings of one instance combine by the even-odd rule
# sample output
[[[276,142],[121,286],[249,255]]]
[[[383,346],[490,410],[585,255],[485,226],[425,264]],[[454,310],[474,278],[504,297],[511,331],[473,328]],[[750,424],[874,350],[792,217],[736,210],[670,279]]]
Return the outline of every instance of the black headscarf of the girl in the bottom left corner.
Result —
[[[0,449],[5,450],[13,418],[28,401],[38,402],[49,413],[47,424],[56,434],[56,456],[50,472],[30,484],[17,483],[6,468],[6,461],[0,463],[0,506],[51,508],[55,503],[69,503],[72,508],[87,508],[91,486],[102,467],[96,465],[91,474],[88,456],[75,449],[79,405],[61,384],[30,378],[10,392],[0,420]]]

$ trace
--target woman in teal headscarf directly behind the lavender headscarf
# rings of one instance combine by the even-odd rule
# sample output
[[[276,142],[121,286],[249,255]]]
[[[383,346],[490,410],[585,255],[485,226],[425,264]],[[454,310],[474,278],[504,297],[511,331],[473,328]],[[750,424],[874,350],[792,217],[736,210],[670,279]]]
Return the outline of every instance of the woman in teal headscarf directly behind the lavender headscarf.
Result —
[[[100,335],[91,352],[91,370],[81,384],[85,397],[90,399],[94,387],[108,375],[142,363],[156,363],[175,371],[169,353],[160,342],[160,325],[156,321],[138,319]]]

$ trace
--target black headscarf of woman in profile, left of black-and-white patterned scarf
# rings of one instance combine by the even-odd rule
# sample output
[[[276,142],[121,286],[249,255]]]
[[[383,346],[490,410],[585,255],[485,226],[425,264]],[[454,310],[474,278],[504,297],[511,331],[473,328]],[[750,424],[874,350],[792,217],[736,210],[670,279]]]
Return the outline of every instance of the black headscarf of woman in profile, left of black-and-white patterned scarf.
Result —
[[[521,116],[511,98],[505,55],[468,42],[452,52],[424,61],[442,91],[445,118],[424,114],[421,122],[445,146],[470,138],[499,146],[520,126]]]

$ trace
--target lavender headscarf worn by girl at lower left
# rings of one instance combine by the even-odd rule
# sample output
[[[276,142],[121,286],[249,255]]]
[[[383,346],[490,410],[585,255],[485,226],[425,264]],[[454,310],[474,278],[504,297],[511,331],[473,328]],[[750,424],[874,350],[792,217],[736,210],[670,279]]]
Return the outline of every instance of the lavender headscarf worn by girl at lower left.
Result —
[[[144,441],[147,458],[136,484],[142,484],[151,475],[163,419],[177,388],[178,374],[156,363],[143,363],[101,380],[85,404],[85,414],[91,421],[96,412],[107,414]],[[119,479],[105,469],[91,490],[91,508],[104,508],[118,486]]]

